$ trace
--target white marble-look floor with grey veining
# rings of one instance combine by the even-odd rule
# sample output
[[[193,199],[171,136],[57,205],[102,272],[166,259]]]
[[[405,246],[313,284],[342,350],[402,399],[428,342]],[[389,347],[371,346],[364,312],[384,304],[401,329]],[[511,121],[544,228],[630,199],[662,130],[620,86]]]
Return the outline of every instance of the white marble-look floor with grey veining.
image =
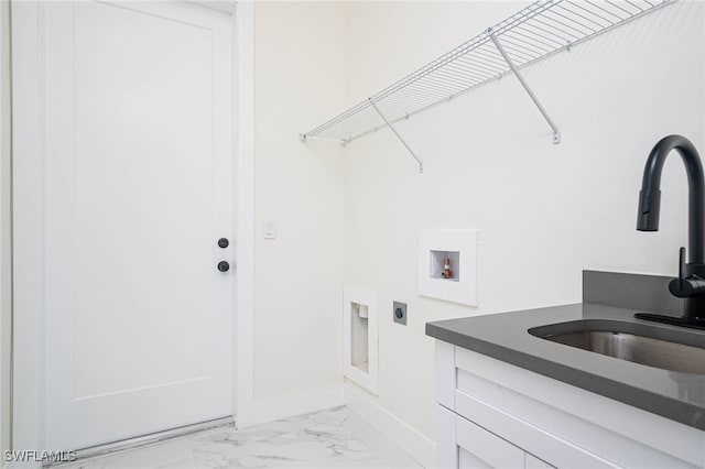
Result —
[[[347,407],[219,427],[52,469],[420,468]]]

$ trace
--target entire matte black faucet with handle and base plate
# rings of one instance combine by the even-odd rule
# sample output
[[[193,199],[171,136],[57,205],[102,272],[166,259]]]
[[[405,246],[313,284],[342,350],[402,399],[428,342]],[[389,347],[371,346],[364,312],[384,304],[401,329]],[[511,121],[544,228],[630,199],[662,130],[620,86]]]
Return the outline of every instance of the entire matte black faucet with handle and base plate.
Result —
[[[690,262],[685,262],[685,248],[681,248],[679,277],[669,283],[669,291],[674,296],[686,298],[685,309],[680,318],[647,313],[638,313],[634,317],[705,329],[705,177],[697,150],[685,137],[664,137],[651,150],[639,192],[637,229],[659,230],[661,173],[672,150],[681,154],[687,173]]]

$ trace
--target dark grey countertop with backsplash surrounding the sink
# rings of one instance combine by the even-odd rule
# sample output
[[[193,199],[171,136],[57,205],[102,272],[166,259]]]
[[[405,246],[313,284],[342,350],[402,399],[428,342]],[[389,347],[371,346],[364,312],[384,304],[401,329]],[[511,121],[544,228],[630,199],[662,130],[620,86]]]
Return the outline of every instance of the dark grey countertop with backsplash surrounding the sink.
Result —
[[[653,307],[648,307],[654,303],[644,302],[644,297],[653,293],[654,279],[661,295],[661,284],[668,277],[621,275],[628,274],[586,272],[584,303],[427,323],[426,335],[705,430],[705,375],[619,360],[555,343],[528,332],[530,328],[556,323],[611,319],[631,323],[634,327],[648,325],[665,334],[669,334],[668,330],[684,331],[691,340],[695,338],[699,341],[702,338],[701,347],[705,347],[705,330],[682,329],[633,318],[639,310],[654,312]],[[632,307],[625,307],[630,301],[623,297],[609,299],[617,306],[585,302],[610,296],[604,290],[599,294],[593,290],[593,286],[601,285],[606,280],[616,280],[616,285],[609,288],[633,295]],[[648,294],[633,287],[634,280],[648,288]],[[627,287],[625,282],[630,283],[632,288]],[[668,298],[664,301],[670,302]],[[669,308],[677,309],[680,303],[664,305],[661,302],[658,305],[663,313]]]

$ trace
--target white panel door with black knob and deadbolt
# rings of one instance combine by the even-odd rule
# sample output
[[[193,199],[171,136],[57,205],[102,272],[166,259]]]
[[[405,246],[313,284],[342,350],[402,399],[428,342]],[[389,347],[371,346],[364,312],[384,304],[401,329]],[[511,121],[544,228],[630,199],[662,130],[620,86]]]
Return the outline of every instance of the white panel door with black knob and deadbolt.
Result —
[[[46,447],[231,416],[229,17],[43,9]]]

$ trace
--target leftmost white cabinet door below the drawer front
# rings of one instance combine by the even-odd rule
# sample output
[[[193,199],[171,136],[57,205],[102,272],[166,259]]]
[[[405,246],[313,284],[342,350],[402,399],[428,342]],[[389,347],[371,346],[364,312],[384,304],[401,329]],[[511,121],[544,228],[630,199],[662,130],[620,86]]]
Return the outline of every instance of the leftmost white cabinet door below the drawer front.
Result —
[[[524,467],[522,449],[460,416],[455,422],[459,468]]]

